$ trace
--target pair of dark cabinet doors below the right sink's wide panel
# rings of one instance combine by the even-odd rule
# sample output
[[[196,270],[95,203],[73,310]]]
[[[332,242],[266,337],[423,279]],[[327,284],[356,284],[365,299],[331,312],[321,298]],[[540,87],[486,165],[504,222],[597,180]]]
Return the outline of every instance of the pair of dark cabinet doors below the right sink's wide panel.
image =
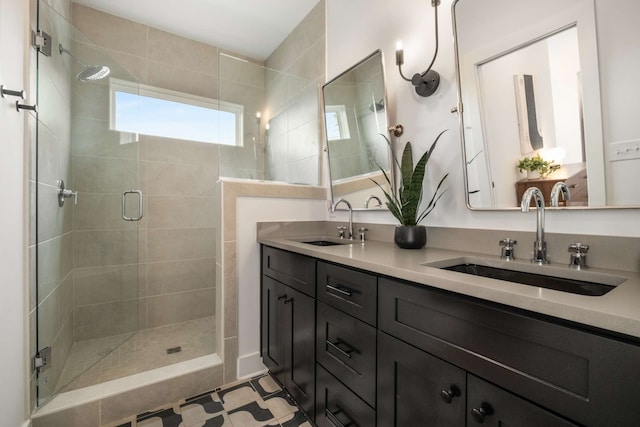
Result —
[[[378,393],[379,426],[577,427],[383,332]]]

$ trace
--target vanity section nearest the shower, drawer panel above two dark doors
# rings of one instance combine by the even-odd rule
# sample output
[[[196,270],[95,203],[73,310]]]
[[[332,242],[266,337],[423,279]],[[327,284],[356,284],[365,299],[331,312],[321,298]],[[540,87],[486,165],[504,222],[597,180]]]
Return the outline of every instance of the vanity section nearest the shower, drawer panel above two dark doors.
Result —
[[[261,286],[262,360],[302,409],[313,417],[315,260],[263,247]]]

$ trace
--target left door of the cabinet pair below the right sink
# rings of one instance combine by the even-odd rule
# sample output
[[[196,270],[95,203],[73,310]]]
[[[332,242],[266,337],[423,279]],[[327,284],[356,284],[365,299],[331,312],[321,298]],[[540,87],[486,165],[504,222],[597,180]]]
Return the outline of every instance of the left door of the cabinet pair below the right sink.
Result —
[[[466,373],[378,332],[378,425],[465,425]]]

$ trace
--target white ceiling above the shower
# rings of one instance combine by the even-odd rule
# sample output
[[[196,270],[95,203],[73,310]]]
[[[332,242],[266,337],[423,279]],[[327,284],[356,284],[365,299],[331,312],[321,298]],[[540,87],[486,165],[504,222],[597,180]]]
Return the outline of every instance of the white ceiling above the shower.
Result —
[[[319,0],[73,0],[265,60]]]

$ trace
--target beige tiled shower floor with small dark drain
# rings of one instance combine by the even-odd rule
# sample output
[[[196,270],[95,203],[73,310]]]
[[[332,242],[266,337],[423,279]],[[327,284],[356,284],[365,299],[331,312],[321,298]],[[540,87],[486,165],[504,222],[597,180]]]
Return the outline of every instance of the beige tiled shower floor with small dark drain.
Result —
[[[88,387],[215,353],[213,317],[128,335],[74,343],[58,381],[58,391]],[[176,347],[181,350],[167,353],[167,349]]]

